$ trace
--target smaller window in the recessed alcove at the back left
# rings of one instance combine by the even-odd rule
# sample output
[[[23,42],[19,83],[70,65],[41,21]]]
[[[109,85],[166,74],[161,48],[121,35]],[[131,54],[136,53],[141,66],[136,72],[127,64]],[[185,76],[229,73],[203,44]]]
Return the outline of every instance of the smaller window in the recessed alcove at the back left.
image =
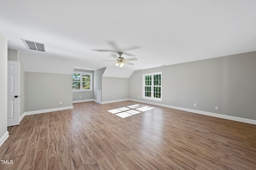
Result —
[[[74,91],[92,90],[92,73],[74,72],[73,73],[73,90]]]

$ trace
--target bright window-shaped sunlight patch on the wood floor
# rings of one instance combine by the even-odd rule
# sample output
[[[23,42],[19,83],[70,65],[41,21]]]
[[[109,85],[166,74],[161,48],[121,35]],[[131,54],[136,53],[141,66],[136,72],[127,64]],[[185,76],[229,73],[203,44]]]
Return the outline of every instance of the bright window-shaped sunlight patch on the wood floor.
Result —
[[[147,111],[147,110],[150,110],[150,109],[154,109],[154,107],[135,104],[135,105],[132,105],[132,106],[121,107],[121,108],[118,108],[118,109],[112,109],[112,110],[108,110],[108,111],[110,113],[116,114],[119,117],[125,118],[125,117],[135,115],[137,113],[140,113],[142,111]]]

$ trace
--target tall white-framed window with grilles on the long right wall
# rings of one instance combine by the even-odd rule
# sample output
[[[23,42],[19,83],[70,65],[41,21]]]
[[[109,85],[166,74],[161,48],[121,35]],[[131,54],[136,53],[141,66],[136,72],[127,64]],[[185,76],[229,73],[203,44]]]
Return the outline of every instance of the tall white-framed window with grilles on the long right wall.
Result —
[[[142,98],[162,101],[162,72],[142,74]]]

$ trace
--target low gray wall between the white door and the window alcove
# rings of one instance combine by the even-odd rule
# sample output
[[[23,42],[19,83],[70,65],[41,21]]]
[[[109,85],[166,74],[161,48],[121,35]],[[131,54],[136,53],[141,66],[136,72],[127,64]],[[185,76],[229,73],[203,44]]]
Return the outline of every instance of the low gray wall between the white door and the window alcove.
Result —
[[[25,72],[25,111],[70,106],[72,74]]]

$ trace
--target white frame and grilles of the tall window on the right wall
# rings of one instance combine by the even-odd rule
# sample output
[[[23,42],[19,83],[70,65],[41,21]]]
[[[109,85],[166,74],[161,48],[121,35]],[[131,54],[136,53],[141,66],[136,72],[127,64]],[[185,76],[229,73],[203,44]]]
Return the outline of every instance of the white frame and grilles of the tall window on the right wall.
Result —
[[[157,85],[154,85],[154,75],[157,75],[157,74],[161,74],[161,85],[157,86]],[[150,76],[151,75],[151,83],[150,85],[146,85],[146,80],[145,80],[145,76]],[[158,80],[159,81],[159,80]],[[149,99],[149,100],[157,100],[157,101],[162,101],[163,100],[163,72],[160,71],[160,72],[151,72],[151,73],[144,73],[142,74],[142,98],[143,99]],[[149,96],[146,96],[145,95],[145,92],[147,92],[145,90],[145,87],[150,87],[150,97]],[[161,98],[156,98],[154,97],[154,87],[160,87],[161,91],[160,91],[160,94],[161,94]],[[159,93],[159,92],[158,92]]]

